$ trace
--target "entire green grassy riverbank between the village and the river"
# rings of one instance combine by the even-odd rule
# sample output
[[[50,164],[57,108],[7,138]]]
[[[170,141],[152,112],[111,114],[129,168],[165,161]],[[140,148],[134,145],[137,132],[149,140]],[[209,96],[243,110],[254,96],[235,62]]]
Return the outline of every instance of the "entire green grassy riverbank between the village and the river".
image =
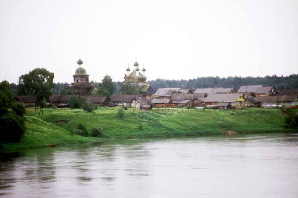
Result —
[[[45,109],[43,116],[28,109],[27,130],[19,143],[2,145],[3,149],[34,148],[92,142],[92,127],[102,127],[107,139],[201,136],[241,133],[293,132],[285,127],[280,109],[247,108],[246,110],[159,109],[158,111],[125,111],[118,108],[97,109],[91,113],[81,109]],[[234,115],[231,115],[234,113]],[[68,123],[55,123],[69,120]],[[72,135],[79,123],[85,125],[89,137]]]

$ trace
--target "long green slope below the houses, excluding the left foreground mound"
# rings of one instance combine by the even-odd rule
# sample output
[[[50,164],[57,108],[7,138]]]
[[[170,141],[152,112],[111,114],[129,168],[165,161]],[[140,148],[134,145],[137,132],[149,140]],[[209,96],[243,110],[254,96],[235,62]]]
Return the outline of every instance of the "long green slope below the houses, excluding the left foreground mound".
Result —
[[[38,112],[28,111],[27,115],[37,117]],[[86,126],[89,136],[92,127],[99,126],[110,139],[211,135],[223,134],[228,130],[241,133],[293,132],[293,129],[285,128],[284,117],[280,109],[265,108],[226,111],[129,109],[125,111],[122,119],[118,117],[117,108],[97,109],[90,113],[81,109],[46,109],[44,115],[39,116],[45,122],[53,123],[68,132],[82,123]],[[69,122],[55,123],[55,120]]]

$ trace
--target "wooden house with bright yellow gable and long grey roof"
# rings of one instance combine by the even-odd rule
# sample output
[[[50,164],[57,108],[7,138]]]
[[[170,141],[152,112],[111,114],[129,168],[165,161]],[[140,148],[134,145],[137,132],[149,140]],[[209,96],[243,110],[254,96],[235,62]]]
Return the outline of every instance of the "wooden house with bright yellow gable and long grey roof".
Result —
[[[205,99],[205,106],[217,106],[219,102],[231,103],[231,108],[245,109],[247,100],[242,93],[209,94]]]

